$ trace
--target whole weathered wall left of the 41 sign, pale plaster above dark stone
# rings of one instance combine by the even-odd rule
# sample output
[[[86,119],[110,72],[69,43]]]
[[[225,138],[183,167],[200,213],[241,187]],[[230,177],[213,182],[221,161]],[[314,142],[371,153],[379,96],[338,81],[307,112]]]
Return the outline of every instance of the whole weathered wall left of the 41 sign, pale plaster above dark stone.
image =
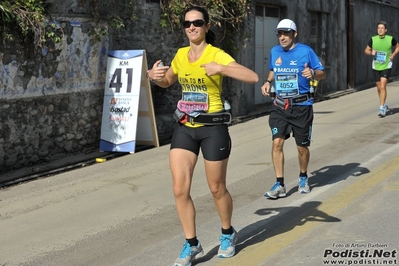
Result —
[[[89,16],[56,17],[58,44],[0,45],[0,173],[98,151],[108,36]]]

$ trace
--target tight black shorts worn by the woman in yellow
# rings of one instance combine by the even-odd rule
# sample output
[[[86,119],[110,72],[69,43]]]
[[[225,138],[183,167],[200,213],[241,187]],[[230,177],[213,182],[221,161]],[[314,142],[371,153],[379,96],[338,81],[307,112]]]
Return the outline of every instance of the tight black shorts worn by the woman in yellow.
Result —
[[[181,123],[174,126],[170,149],[180,148],[202,155],[208,161],[229,158],[231,139],[228,125],[211,125],[191,128]]]

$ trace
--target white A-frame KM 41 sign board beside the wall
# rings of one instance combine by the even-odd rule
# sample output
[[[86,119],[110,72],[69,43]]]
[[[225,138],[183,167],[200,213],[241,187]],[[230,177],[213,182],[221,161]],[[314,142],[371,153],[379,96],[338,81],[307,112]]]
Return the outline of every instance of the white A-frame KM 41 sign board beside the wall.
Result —
[[[159,147],[145,50],[109,51],[100,151]]]

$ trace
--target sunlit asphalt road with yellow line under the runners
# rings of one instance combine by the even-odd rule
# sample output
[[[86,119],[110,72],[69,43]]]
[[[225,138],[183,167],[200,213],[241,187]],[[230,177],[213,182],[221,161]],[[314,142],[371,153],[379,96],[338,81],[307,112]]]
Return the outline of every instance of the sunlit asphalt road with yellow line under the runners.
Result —
[[[310,194],[285,145],[288,196],[275,182],[268,116],[230,127],[228,188],[237,254],[215,257],[220,223],[202,160],[192,197],[205,256],[193,265],[398,265],[399,83],[379,118],[375,88],[314,106]],[[173,265],[184,236],[174,207],[169,145],[0,190],[0,265]]]

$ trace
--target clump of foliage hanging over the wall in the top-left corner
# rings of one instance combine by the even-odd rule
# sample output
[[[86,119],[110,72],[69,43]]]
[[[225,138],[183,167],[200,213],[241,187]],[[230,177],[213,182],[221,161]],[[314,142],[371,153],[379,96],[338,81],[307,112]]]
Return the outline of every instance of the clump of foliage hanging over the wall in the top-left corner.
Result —
[[[32,36],[35,47],[41,47],[48,41],[61,41],[56,24],[47,20],[46,8],[43,0],[9,0],[0,3],[0,38],[12,41],[15,33],[24,37]]]

